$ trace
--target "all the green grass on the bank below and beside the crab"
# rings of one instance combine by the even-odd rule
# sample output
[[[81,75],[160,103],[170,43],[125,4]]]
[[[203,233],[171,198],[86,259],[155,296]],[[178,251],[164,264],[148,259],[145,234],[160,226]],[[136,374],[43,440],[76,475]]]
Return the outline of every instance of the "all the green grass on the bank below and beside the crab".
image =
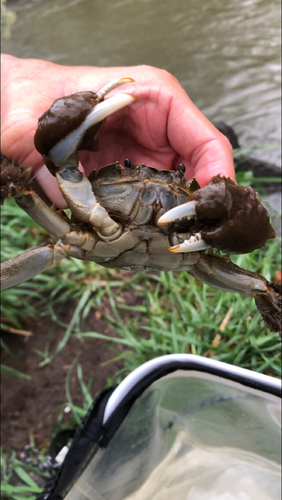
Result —
[[[249,183],[246,175],[244,180]],[[1,234],[3,260],[47,241],[45,232],[12,200],[5,202],[2,209]],[[268,280],[273,279],[281,270],[280,241],[269,241],[265,249],[232,260],[249,271],[263,274]],[[75,307],[71,321],[64,324],[57,311],[68,301]],[[87,316],[93,308],[101,312],[116,337],[86,331]],[[117,344],[123,345],[122,352],[120,349],[116,355],[113,352],[113,359],[124,361],[123,370],[116,374],[118,381],[145,361],[176,352],[211,356],[276,377],[281,373],[279,336],[267,330],[254,300],[203,285],[186,272],[133,274],[66,259],[33,280],[2,292],[4,330],[21,330],[28,318],[32,321],[38,315],[50,315],[65,329],[53,351],[47,339],[44,351],[37,352],[40,366],[51,363],[69,338],[75,336],[93,338],[93,345],[97,338],[102,338],[111,343],[113,349]],[[1,346],[4,373],[25,377],[24,373],[9,371],[5,357],[11,353],[3,341]],[[90,386],[84,384],[82,367],[78,365],[84,405],[79,408],[72,402],[68,382],[75,365],[73,360],[66,379],[66,405],[72,410],[74,425],[81,421],[91,401]],[[62,412],[59,412],[58,429]],[[14,452],[4,452],[2,498],[34,499],[39,487],[33,473],[31,466],[21,463]]]

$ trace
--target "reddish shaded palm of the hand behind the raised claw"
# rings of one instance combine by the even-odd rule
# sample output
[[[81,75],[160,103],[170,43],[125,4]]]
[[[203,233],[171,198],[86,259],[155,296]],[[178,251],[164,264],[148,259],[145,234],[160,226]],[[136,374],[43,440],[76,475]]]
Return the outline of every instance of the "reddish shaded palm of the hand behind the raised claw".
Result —
[[[86,173],[125,158],[136,164],[173,168],[181,158],[167,137],[168,111],[165,103],[137,102],[107,118],[100,134],[100,151],[80,155]]]

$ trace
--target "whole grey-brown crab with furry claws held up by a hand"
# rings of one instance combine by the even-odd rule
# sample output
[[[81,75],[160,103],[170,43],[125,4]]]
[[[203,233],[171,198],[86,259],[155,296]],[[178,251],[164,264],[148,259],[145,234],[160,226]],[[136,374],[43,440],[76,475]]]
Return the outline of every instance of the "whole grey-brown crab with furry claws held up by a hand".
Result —
[[[275,237],[251,187],[216,176],[201,188],[195,179],[185,179],[183,164],[175,171],[157,170],[126,159],[123,166],[114,162],[88,178],[78,169],[78,151],[99,148],[105,118],[134,101],[130,94],[104,97],[131,81],[121,78],[97,93],[57,99],[39,119],[35,147],[56,177],[71,218],[42,196],[31,170],[3,158],[2,198],[14,197],[53,243],[4,262],[2,290],[67,256],[110,268],[182,270],[223,291],[254,297],[270,330],[281,333],[279,285],[229,258]]]

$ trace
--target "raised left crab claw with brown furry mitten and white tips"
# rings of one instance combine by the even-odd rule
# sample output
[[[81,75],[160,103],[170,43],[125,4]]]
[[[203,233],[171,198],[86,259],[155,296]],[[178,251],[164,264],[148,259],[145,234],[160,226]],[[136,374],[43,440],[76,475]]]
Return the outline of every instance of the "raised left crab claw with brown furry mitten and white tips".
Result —
[[[84,91],[62,97],[39,118],[34,144],[52,174],[67,166],[78,150],[99,149],[98,132],[103,120],[134,101],[129,94],[117,94],[106,101],[104,97],[129,82],[132,78],[120,78],[97,93]]]

